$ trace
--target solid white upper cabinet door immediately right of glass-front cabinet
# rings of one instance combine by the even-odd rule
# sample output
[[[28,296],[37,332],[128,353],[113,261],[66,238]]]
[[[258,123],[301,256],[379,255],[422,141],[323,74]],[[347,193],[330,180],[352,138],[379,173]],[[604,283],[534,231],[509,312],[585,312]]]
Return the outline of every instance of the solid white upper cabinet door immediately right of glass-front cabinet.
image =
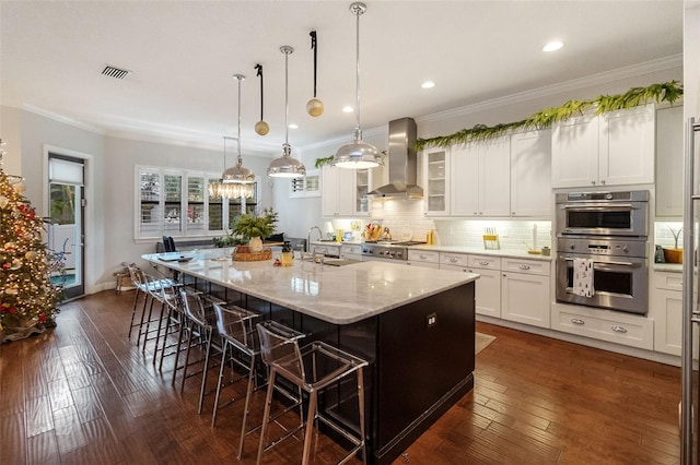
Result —
[[[450,154],[452,216],[479,215],[479,150],[478,144],[453,145]]]

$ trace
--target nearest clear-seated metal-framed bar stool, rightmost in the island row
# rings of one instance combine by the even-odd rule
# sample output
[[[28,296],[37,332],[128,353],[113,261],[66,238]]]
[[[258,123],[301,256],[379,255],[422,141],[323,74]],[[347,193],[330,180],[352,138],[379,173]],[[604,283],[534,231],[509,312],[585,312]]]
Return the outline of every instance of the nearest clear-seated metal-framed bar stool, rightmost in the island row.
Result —
[[[288,438],[302,428],[305,428],[302,464],[308,464],[312,433],[314,429],[313,425],[316,419],[323,421],[325,425],[342,434],[343,438],[354,444],[354,448],[339,463],[345,463],[352,457],[354,453],[361,450],[362,460],[366,464],[364,383],[362,375],[364,367],[369,363],[359,357],[319,341],[300,348],[298,339],[290,339],[285,337],[284,334],[280,334],[275,325],[270,324],[270,322],[258,323],[257,329],[260,336],[260,355],[262,357],[262,361],[265,361],[270,369],[267,396],[265,401],[265,413],[262,415],[262,428],[260,430],[260,443],[258,445],[257,464],[259,464],[262,458],[264,450],[269,450],[279,441]],[[319,372],[323,368],[328,369],[324,370],[325,372]],[[311,371],[308,369],[311,369]],[[318,412],[318,392],[352,373],[357,374],[358,382],[358,407],[360,417],[359,438],[354,436],[357,434],[357,431],[348,431],[339,425],[338,421],[332,420]],[[266,445],[266,432],[269,425],[275,379],[278,374],[308,394],[308,413],[306,415],[306,421],[302,420],[302,425],[299,428],[288,432],[280,440]]]

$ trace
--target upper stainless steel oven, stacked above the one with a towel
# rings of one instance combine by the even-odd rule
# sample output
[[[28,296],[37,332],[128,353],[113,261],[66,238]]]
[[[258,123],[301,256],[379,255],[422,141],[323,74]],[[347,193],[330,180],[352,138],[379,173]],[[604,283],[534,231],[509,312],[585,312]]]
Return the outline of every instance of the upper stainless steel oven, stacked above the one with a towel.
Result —
[[[649,235],[649,191],[558,193],[556,199],[559,235]]]

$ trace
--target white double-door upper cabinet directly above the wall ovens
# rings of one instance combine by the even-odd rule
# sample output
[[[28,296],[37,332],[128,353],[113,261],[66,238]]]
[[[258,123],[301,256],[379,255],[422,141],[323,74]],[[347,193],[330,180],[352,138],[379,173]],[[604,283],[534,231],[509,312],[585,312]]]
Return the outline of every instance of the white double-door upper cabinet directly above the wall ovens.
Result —
[[[653,183],[655,107],[555,124],[551,152],[552,188]]]

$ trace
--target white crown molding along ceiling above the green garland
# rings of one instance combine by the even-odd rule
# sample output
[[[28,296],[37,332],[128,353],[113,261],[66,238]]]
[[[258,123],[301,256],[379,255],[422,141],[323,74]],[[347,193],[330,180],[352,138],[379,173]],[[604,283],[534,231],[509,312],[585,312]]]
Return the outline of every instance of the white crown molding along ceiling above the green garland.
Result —
[[[606,84],[606,83],[622,80],[622,79],[634,78],[642,74],[649,74],[657,71],[665,71],[672,68],[679,68],[679,67],[682,67],[682,53],[673,55],[670,57],[665,57],[658,60],[646,61],[640,64],[619,68],[612,71],[592,74],[590,76],[579,78],[575,80],[559,83],[559,84],[552,84],[544,87],[534,88],[530,91],[518,92],[516,94],[492,98],[490,100],[466,105],[463,107],[453,108],[445,111],[439,111],[435,114],[425,115],[425,116],[416,118],[416,121],[417,122],[436,122],[436,121],[443,121],[443,120],[453,119],[453,118],[459,118],[459,117],[464,117],[475,112],[500,108],[508,105],[518,104],[522,102],[533,100],[536,98],[541,98],[541,97],[546,97],[553,94],[576,91],[576,90],[590,87],[593,85]]]

